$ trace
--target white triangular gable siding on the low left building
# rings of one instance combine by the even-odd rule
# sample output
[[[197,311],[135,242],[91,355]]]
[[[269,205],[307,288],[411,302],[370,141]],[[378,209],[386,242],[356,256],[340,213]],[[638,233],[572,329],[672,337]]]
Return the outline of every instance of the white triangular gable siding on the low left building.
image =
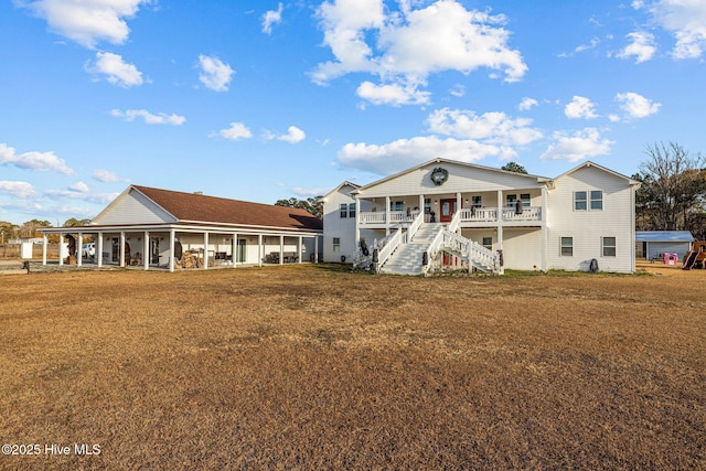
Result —
[[[96,225],[159,224],[176,220],[142,194],[131,190],[121,194],[93,220]]]

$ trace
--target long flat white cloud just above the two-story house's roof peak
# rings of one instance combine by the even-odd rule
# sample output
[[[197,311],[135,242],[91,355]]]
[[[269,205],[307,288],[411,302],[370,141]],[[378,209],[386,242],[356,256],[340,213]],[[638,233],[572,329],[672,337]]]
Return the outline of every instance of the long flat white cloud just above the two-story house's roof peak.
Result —
[[[512,159],[516,153],[512,149],[475,140],[416,137],[382,146],[346,143],[339,151],[336,161],[344,168],[385,175],[435,158],[474,162],[491,156]]]

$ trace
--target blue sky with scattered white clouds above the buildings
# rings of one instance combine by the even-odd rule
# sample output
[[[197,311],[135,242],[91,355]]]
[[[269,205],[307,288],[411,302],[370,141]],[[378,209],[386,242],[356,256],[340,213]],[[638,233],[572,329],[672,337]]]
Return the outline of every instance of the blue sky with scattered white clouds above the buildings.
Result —
[[[436,157],[706,150],[706,2],[0,2],[0,221],[130,183],[274,203]]]

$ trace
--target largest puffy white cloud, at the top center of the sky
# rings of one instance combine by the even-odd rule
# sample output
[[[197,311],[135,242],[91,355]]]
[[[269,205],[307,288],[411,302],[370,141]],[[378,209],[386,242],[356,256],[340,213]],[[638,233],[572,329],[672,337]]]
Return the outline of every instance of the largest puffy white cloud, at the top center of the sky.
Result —
[[[424,104],[428,95],[419,95],[417,87],[426,86],[432,73],[469,74],[485,67],[504,74],[506,82],[515,82],[527,71],[520,52],[507,46],[510,32],[502,28],[506,21],[503,15],[469,11],[456,0],[413,9],[417,4],[403,1],[399,11],[387,11],[383,0],[323,2],[318,15],[324,44],[335,60],[318,65],[311,74],[314,83],[323,85],[354,72],[370,73],[377,75],[381,84],[361,85],[360,96],[371,97],[375,104]]]

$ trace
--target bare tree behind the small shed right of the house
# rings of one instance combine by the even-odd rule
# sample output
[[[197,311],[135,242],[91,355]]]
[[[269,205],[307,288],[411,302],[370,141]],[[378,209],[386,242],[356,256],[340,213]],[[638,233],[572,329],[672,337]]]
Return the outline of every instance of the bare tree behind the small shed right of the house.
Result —
[[[635,225],[642,231],[692,231],[703,236],[706,212],[706,169],[702,154],[689,156],[676,142],[645,149],[648,160],[634,175]]]

